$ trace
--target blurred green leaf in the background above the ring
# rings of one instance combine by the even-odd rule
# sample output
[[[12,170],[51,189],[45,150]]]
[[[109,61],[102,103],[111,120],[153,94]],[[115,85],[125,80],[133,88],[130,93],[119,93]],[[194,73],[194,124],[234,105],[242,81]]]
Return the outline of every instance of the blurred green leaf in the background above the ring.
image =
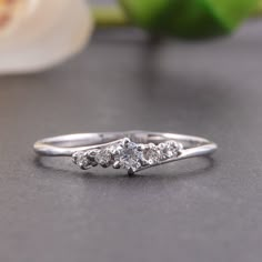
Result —
[[[153,33],[211,38],[232,32],[259,0],[119,0],[129,19]]]

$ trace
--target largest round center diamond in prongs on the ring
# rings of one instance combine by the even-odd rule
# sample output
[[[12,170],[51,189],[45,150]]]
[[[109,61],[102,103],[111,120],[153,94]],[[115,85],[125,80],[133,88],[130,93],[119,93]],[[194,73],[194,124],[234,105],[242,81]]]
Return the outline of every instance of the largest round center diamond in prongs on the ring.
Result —
[[[120,165],[127,169],[129,174],[133,174],[141,168],[141,159],[142,151],[140,147],[129,139],[124,139],[119,158]]]

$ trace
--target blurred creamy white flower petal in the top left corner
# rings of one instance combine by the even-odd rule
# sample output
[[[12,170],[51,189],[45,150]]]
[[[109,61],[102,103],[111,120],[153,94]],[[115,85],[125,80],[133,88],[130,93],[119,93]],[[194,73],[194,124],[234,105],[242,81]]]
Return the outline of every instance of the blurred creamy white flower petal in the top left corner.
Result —
[[[0,74],[46,70],[83,49],[85,0],[0,0]]]

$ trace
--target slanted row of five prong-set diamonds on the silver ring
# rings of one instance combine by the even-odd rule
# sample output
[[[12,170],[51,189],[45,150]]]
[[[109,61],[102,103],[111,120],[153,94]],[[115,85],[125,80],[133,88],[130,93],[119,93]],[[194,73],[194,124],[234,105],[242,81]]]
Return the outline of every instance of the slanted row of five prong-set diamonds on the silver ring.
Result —
[[[173,140],[159,143],[134,143],[124,138],[115,143],[99,149],[77,151],[73,153],[73,162],[81,169],[101,165],[114,169],[124,168],[132,174],[143,167],[159,164],[165,160],[177,158],[182,144]]]

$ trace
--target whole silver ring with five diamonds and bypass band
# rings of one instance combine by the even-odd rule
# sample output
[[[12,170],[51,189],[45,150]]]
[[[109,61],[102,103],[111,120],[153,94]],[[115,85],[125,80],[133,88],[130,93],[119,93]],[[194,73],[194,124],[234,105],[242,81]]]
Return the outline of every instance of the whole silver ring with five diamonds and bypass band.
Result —
[[[39,140],[34,151],[46,157],[71,157],[83,170],[101,165],[123,168],[129,174],[188,158],[213,153],[206,139],[161,132],[78,133]]]

